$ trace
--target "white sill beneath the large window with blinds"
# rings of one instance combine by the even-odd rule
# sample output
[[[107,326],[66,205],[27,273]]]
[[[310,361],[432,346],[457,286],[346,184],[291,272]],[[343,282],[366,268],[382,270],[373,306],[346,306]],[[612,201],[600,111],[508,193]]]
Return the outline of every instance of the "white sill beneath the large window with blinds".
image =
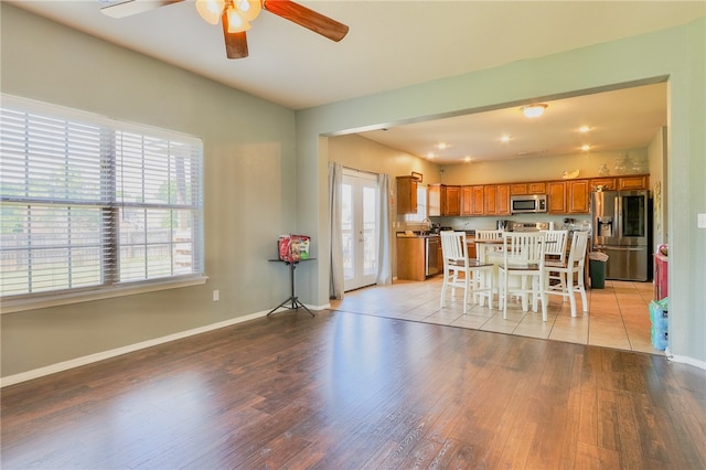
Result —
[[[207,280],[207,276],[183,277],[179,279],[169,279],[156,282],[141,282],[139,285],[114,286],[109,288],[82,292],[46,295],[18,300],[3,300],[0,308],[0,313],[14,313],[25,310],[44,309],[50,307],[67,306],[71,303],[89,302],[93,300],[133,296],[136,293],[156,292],[158,290],[200,286],[206,284]]]

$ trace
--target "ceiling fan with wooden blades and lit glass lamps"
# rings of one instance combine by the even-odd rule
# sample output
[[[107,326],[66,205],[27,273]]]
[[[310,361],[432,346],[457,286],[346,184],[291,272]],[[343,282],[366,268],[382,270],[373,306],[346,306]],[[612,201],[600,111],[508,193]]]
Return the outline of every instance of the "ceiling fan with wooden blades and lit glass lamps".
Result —
[[[108,17],[125,18],[143,11],[152,10],[184,0],[98,0],[109,3],[100,11]],[[228,58],[244,58],[248,56],[246,31],[250,29],[250,21],[255,20],[260,10],[267,10],[278,17],[289,20],[331,41],[339,42],[349,32],[349,26],[318,13],[291,0],[196,0],[196,11],[211,24],[223,24],[225,52]]]

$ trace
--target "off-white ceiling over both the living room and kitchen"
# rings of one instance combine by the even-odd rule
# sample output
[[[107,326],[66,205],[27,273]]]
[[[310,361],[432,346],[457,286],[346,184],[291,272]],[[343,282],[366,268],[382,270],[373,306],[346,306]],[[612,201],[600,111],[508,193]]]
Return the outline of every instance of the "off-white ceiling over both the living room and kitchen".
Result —
[[[138,0],[145,1],[145,0]],[[249,57],[227,60],[221,25],[193,1],[113,19],[97,0],[3,0],[291,109],[425,83],[684,24],[704,1],[301,1],[350,26],[335,43],[263,11],[247,32]],[[527,97],[531,99],[533,97]],[[389,126],[365,137],[437,161],[644,147],[666,124],[665,85],[545,102],[527,121],[517,107]],[[593,130],[579,138],[576,128]],[[500,145],[507,133],[511,141]],[[434,145],[451,147],[441,152]]]

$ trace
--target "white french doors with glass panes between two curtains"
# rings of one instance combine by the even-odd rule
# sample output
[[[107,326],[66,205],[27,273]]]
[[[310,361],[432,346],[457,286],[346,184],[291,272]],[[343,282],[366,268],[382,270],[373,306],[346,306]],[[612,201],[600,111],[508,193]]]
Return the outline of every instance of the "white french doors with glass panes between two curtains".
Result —
[[[343,171],[341,233],[343,289],[375,284],[377,274],[377,175]]]

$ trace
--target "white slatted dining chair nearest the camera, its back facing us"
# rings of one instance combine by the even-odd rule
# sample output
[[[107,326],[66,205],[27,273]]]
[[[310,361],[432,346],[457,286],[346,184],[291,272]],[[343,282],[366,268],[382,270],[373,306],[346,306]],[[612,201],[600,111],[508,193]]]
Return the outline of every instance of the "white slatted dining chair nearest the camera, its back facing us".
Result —
[[[534,298],[542,302],[542,320],[547,321],[545,287],[545,234],[541,232],[506,232],[503,234],[503,261],[498,266],[500,298],[503,318],[507,318],[510,296],[522,300],[527,311],[530,299],[536,311]],[[516,284],[513,282],[516,278]]]

